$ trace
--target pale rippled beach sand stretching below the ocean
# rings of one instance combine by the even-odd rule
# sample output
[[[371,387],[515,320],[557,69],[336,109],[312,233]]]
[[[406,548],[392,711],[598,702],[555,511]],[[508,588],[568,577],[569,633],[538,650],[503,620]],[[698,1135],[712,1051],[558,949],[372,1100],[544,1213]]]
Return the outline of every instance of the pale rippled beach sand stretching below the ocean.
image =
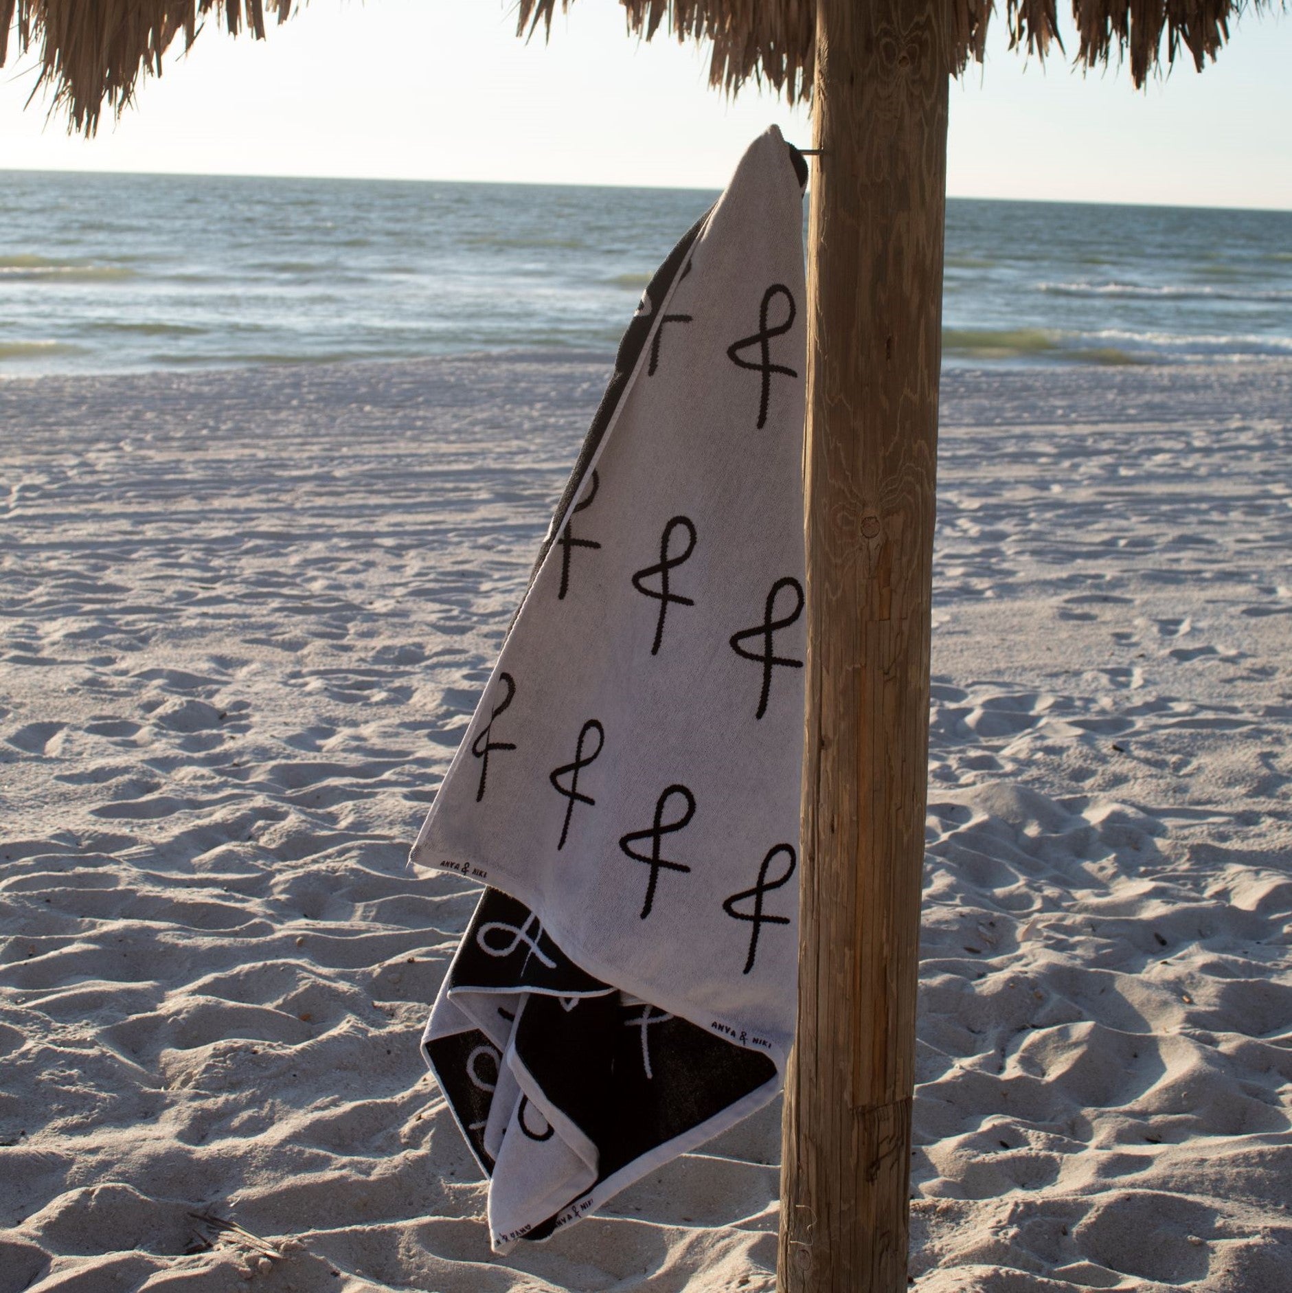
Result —
[[[0,1293],[773,1287],[779,1109],[495,1261],[418,1054],[407,847],[605,374],[0,383]],[[1292,366],[943,420],[914,1288],[1283,1293]]]

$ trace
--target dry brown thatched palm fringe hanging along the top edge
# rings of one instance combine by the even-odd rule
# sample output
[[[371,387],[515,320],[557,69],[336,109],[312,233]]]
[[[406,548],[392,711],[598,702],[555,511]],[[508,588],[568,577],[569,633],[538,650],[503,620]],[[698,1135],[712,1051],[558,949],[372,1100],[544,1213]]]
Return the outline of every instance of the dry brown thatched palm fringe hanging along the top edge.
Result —
[[[265,36],[265,19],[282,22],[294,0],[0,0],[0,66],[17,18],[19,50],[35,49],[43,84],[54,89],[74,129],[93,133],[105,105],[119,112],[140,79],[160,74],[162,56],[184,34],[191,45],[208,17],[230,34]],[[519,30],[551,27],[570,0],[519,0]],[[729,92],[746,80],[770,81],[790,102],[812,92],[815,0],[621,0],[629,30],[649,40],[661,28],[682,40],[713,43],[709,78]],[[868,0],[854,0],[868,3]],[[1229,39],[1244,0],[1072,0],[1079,63],[1130,57],[1136,85],[1187,50],[1198,69]],[[1265,8],[1271,0],[1252,0]],[[299,4],[299,0],[297,0]],[[945,0],[953,66],[982,59],[995,0]],[[1057,0],[1004,0],[1010,45],[1041,57],[1058,43]]]

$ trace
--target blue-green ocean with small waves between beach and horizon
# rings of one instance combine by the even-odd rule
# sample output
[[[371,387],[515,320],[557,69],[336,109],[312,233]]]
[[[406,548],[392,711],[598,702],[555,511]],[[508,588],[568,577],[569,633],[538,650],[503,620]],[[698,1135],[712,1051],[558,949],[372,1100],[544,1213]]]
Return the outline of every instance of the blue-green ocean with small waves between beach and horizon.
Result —
[[[0,172],[0,378],[609,353],[715,194]],[[952,199],[944,362],[1292,356],[1292,213]]]

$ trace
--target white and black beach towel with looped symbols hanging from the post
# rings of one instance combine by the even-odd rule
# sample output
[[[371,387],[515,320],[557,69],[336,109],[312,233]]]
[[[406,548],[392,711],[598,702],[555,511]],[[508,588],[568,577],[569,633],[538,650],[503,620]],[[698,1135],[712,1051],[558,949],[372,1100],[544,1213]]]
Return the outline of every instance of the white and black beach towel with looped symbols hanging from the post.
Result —
[[[490,1178],[499,1253],[781,1086],[806,173],[767,131],[647,287],[413,850],[486,886],[423,1050]]]

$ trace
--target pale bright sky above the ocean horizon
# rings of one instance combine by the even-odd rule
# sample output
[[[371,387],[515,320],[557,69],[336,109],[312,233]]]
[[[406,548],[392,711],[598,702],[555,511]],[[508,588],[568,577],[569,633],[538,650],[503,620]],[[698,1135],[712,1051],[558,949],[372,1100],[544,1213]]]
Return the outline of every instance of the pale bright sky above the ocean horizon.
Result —
[[[771,122],[811,144],[803,109],[753,85],[728,101],[698,47],[627,36],[614,0],[577,0],[547,45],[516,39],[510,0],[309,0],[265,41],[211,23],[93,140],[25,107],[32,67],[0,70],[0,171],[716,189]],[[1289,120],[1292,13],[1248,13],[1205,72],[1141,92],[1125,69],[1010,52],[997,21],[952,85],[948,193],[1292,209]]]

